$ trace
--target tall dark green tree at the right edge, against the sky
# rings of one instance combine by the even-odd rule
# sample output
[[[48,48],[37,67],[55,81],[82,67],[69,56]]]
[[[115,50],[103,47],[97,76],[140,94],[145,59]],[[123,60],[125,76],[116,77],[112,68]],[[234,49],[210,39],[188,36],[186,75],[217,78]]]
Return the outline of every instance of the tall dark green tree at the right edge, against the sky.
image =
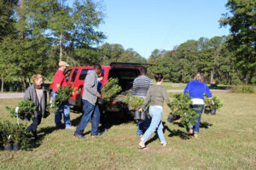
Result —
[[[230,26],[232,37],[228,42],[229,49],[236,56],[236,66],[244,83],[251,83],[255,76],[255,6],[255,0],[229,0],[226,3],[229,14],[223,14],[219,20],[221,26]]]

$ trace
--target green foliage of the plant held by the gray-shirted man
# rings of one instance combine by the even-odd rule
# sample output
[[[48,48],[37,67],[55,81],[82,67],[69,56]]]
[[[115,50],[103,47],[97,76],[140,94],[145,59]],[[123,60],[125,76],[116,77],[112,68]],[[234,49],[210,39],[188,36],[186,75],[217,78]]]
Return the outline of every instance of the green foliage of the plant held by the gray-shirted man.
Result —
[[[109,78],[108,82],[102,88],[102,99],[106,99],[108,102],[112,102],[118,94],[122,91],[119,86],[118,78]]]

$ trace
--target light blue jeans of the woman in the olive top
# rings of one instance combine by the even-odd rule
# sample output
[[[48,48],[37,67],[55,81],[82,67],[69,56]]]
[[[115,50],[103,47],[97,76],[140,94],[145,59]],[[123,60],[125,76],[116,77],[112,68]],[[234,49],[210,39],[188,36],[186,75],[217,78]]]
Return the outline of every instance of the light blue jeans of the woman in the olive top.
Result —
[[[157,130],[160,143],[161,144],[166,143],[166,139],[163,133],[164,126],[161,122],[161,118],[163,116],[163,109],[159,107],[150,106],[149,115],[152,117],[152,121],[150,123],[150,126],[148,127],[148,130],[143,134],[143,137],[141,138],[141,140],[145,143],[150,137],[150,135],[154,133],[155,130]]]

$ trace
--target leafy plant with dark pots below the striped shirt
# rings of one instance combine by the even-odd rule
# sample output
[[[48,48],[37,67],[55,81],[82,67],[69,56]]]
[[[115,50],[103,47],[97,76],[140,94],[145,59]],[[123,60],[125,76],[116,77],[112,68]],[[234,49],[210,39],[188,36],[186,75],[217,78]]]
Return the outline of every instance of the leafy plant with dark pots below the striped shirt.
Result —
[[[145,120],[146,115],[145,112],[139,112],[138,109],[143,107],[144,99],[140,98],[137,95],[131,96],[131,94],[127,94],[123,99],[123,102],[131,107],[132,111],[134,112],[134,119],[135,120]]]

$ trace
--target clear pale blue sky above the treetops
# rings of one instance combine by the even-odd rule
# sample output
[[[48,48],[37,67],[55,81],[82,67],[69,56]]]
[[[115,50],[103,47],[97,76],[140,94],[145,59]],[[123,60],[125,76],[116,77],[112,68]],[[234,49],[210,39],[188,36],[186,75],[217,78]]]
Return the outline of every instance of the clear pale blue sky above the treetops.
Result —
[[[69,0],[72,1],[72,0]],[[227,0],[101,0],[104,42],[133,48],[148,59],[157,49],[172,50],[188,40],[229,35],[218,20]]]

